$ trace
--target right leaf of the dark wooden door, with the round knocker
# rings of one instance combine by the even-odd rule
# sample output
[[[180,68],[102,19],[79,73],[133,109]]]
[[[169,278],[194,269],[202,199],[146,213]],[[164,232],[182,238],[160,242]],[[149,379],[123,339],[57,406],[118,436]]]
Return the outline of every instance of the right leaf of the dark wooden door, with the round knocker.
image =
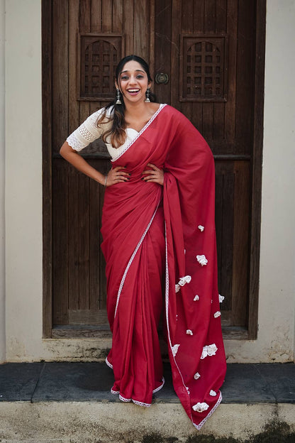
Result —
[[[255,0],[155,2],[155,72],[169,77],[155,91],[191,120],[215,156],[222,322],[241,328],[249,302],[255,23]]]

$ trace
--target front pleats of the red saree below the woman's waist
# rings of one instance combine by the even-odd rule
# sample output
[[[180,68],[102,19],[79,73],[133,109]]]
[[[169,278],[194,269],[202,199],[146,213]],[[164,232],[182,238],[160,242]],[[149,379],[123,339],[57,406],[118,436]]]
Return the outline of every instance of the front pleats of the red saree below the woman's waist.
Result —
[[[126,275],[113,326],[113,390],[125,400],[145,405],[152,402],[152,390],[162,384],[157,326],[162,311],[161,276],[165,264],[163,223],[159,208]]]

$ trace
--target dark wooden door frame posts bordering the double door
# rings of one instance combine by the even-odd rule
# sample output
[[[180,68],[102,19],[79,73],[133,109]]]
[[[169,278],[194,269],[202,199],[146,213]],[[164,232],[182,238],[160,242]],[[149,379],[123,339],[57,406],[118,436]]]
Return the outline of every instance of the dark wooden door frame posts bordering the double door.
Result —
[[[150,2],[152,9],[155,0],[150,0]],[[265,28],[266,0],[257,0],[248,322],[245,330],[235,327],[224,328],[224,339],[257,339],[265,92]],[[42,0],[43,339],[52,338],[52,50],[52,0]],[[74,334],[69,331],[67,337],[73,336],[86,337],[84,332],[81,332],[78,336],[77,331]],[[95,337],[106,337],[106,332],[97,332]]]

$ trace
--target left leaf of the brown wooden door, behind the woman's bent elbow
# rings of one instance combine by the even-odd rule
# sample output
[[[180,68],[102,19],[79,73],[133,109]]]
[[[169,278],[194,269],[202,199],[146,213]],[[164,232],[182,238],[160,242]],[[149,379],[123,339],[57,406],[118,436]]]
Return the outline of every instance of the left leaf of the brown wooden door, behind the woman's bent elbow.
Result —
[[[113,75],[123,55],[149,60],[152,30],[149,0],[57,0],[50,6],[52,323],[55,337],[61,337],[69,329],[95,334],[108,329],[108,322],[100,251],[104,188],[58,151],[69,133],[114,97]],[[104,143],[91,143],[81,154],[101,172],[110,167]]]

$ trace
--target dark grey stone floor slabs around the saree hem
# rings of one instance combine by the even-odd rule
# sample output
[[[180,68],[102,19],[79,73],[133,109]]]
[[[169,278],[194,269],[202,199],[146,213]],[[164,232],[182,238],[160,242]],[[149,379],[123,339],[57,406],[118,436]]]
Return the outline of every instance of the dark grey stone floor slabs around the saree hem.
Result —
[[[155,403],[179,403],[169,363]],[[0,401],[119,402],[110,393],[113,371],[105,363],[44,362],[0,365]],[[295,403],[295,364],[229,364],[223,403]]]

